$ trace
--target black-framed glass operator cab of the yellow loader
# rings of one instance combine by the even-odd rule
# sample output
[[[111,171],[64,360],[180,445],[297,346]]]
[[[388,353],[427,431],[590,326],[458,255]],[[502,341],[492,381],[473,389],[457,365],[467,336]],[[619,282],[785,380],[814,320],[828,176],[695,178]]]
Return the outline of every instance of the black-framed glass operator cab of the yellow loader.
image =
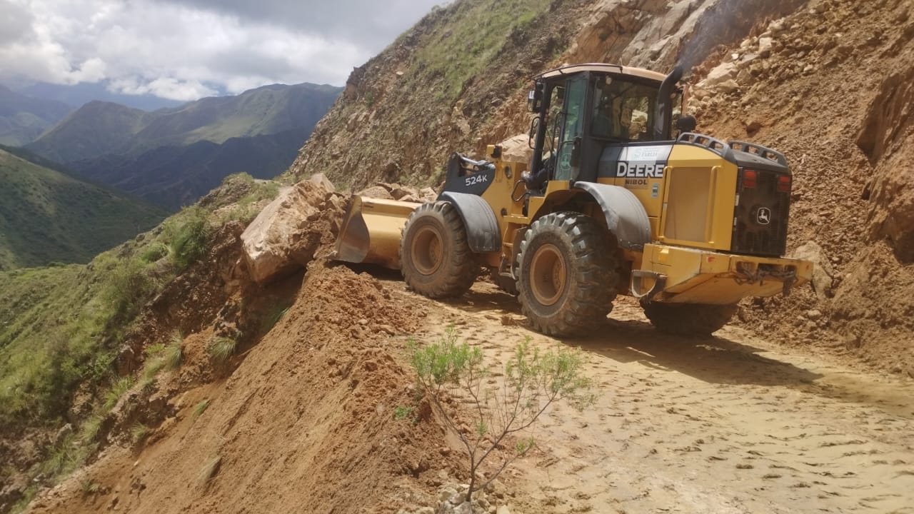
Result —
[[[531,169],[545,169],[549,180],[595,182],[608,148],[671,140],[682,110],[678,78],[608,64],[538,76],[529,95],[537,113]]]

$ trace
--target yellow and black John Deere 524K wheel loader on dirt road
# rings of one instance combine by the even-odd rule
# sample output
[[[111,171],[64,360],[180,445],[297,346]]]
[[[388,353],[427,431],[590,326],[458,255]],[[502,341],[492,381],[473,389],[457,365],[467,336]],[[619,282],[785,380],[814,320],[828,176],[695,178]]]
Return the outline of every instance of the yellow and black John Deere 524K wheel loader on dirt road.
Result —
[[[354,198],[335,258],[399,269],[430,298],[487,268],[553,336],[598,326],[617,294],[683,335],[723,327],[744,297],[789,294],[813,264],[783,257],[786,158],[696,134],[681,79],[611,64],[538,75],[531,158],[454,154],[433,203]]]

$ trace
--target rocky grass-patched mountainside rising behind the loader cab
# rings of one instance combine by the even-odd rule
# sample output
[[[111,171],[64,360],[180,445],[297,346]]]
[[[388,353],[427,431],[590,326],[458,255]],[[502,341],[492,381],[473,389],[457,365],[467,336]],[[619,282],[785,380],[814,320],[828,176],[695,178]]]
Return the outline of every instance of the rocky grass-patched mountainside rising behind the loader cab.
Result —
[[[482,155],[485,145],[526,133],[526,91],[539,72],[582,62],[668,72],[798,5],[802,0],[453,2],[352,72],[292,175],[324,172],[355,188],[377,180],[438,184],[455,150]]]

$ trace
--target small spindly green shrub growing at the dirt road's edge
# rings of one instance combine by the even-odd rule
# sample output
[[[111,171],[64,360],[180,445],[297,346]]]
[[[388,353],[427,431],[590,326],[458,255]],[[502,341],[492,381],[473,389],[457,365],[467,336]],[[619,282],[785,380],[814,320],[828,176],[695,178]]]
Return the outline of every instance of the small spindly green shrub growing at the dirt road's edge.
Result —
[[[485,487],[498,477],[515,458],[526,455],[535,442],[521,438],[515,453],[507,456],[488,480],[476,485],[476,474],[483,462],[505,438],[526,431],[554,402],[568,401],[583,409],[594,402],[590,380],[581,375],[584,359],[579,350],[564,348],[541,352],[530,347],[530,338],[515,348],[507,361],[501,385],[486,380],[489,369],[484,365],[480,348],[457,342],[457,332],[449,327],[438,342],[419,347],[413,343],[411,364],[420,391],[430,402],[447,428],[460,439],[470,464],[470,484],[466,500],[473,491]],[[445,408],[445,397],[465,395],[473,407],[472,429],[462,430],[452,412]]]

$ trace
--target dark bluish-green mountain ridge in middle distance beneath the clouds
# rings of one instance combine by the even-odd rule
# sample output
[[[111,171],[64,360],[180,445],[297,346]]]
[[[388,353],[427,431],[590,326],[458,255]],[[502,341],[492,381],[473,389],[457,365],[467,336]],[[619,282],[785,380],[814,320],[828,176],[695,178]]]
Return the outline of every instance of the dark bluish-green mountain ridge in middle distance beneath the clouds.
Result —
[[[27,149],[176,209],[232,173],[282,173],[340,91],[274,84],[156,112],[89,102]]]

